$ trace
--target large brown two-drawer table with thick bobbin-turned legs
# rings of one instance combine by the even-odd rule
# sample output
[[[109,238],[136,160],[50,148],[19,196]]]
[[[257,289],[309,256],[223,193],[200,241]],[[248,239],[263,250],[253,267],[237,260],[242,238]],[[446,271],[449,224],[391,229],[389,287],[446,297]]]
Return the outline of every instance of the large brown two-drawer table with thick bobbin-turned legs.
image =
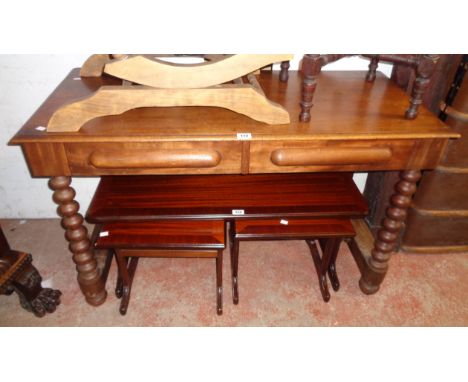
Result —
[[[420,170],[434,168],[448,139],[458,134],[424,108],[416,120],[405,120],[406,94],[381,74],[367,83],[365,72],[322,73],[311,121],[299,122],[301,81],[297,72],[287,83],[276,72],[259,78],[268,98],[290,113],[289,125],[266,125],[220,108],[173,107],[97,118],[74,133],[41,131],[61,105],[118,83],[80,79],[78,69],[68,75],[10,144],[22,147],[32,176],[51,177],[88,303],[100,305],[107,294],[71,187],[73,176],[401,170],[376,239],[362,220],[354,221],[360,287],[369,294],[379,289]],[[250,133],[251,139],[239,140],[238,133]]]

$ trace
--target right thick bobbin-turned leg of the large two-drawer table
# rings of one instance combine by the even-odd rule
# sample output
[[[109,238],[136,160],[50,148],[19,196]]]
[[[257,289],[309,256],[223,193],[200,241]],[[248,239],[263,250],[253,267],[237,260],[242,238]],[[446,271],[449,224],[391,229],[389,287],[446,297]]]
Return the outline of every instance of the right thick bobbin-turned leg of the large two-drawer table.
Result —
[[[395,193],[390,198],[386,218],[382,223],[382,228],[377,232],[368,264],[370,271],[363,273],[359,280],[359,286],[366,294],[377,292],[387,273],[390,255],[395,249],[398,234],[405,222],[419,179],[421,179],[419,170],[406,170],[400,173],[400,181],[396,184]]]

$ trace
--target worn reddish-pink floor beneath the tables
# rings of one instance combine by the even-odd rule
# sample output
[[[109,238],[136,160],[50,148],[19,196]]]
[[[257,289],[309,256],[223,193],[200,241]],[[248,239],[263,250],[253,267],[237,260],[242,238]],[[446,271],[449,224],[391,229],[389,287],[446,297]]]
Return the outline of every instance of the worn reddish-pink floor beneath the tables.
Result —
[[[113,289],[116,266],[100,307],[88,305],[57,219],[3,220],[14,249],[33,254],[43,285],[63,293],[57,311],[36,318],[16,295],[0,296],[1,326],[467,326],[468,254],[393,256],[381,290],[364,295],[346,246],[337,260],[341,281],[321,299],[308,247],[301,241],[242,242],[239,305],[232,304],[224,253],[224,313],[216,315],[213,259],[141,259],[126,316]]]

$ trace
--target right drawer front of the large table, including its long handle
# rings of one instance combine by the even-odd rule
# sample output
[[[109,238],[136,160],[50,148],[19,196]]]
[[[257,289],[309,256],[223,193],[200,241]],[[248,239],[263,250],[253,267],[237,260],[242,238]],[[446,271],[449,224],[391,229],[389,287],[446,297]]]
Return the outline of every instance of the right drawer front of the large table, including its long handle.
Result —
[[[249,172],[372,171],[436,165],[432,140],[256,141]]]

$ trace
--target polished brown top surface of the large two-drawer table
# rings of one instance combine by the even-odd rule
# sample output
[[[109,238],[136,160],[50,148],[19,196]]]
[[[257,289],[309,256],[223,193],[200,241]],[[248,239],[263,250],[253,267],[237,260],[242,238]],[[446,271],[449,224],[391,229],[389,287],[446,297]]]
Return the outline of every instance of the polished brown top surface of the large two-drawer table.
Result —
[[[119,85],[111,77],[80,78],[74,69],[54,90],[11,140],[27,142],[161,142],[235,140],[239,132],[250,132],[252,140],[349,140],[456,138],[426,108],[415,120],[404,118],[408,96],[383,74],[374,83],[365,72],[323,72],[319,76],[311,121],[299,121],[301,75],[291,71],[289,81],[279,81],[278,72],[259,76],[267,97],[290,113],[286,125],[267,125],[222,108],[140,108],[119,116],[96,118],[78,132],[38,131],[60,106],[91,95],[102,85]],[[208,112],[209,111],[209,112]]]

